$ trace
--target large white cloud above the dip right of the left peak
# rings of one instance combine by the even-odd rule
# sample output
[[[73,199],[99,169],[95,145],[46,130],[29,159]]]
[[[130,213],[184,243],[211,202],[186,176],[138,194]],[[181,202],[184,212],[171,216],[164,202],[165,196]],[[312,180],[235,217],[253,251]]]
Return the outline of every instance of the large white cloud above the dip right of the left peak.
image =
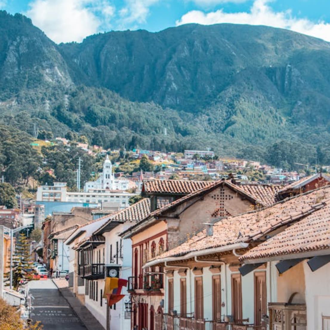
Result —
[[[82,41],[109,27],[114,7],[107,0],[34,0],[26,16],[56,43]]]

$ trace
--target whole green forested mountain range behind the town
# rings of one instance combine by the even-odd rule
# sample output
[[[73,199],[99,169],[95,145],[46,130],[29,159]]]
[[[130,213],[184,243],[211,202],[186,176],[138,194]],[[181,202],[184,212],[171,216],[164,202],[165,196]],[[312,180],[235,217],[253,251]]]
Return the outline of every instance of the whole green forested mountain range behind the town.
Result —
[[[330,43],[320,39],[188,24],[56,45],[6,12],[0,32],[0,117],[28,133],[37,125],[107,147],[212,146],[263,160],[286,140],[302,148],[298,162],[321,159],[317,146],[330,137]]]

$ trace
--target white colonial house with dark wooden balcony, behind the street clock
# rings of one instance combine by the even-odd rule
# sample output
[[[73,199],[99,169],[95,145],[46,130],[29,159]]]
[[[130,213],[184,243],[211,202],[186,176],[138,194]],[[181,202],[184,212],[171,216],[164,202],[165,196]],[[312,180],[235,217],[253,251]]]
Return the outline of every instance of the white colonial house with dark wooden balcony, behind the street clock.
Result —
[[[104,279],[127,279],[130,276],[131,240],[121,239],[119,233],[141,221],[149,212],[149,199],[144,198],[124,210],[98,219],[88,225],[88,230],[79,228],[66,241],[75,251],[70,267],[73,272],[72,290],[105,329],[130,328],[130,314],[125,313],[124,307],[127,299],[108,307]],[[121,294],[128,295],[125,287]]]

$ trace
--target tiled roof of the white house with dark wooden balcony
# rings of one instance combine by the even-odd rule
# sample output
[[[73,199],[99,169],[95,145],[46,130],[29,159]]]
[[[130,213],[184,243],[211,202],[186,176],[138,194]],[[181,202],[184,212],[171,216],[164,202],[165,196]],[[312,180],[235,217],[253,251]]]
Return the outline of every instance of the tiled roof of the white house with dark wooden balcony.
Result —
[[[101,232],[102,229],[108,226],[110,222],[141,222],[143,219],[147,218],[150,214],[150,199],[143,198],[137,203],[129,206],[128,208],[121,210],[115,214],[107,215],[101,219],[108,219],[101,227],[95,230],[94,233]]]

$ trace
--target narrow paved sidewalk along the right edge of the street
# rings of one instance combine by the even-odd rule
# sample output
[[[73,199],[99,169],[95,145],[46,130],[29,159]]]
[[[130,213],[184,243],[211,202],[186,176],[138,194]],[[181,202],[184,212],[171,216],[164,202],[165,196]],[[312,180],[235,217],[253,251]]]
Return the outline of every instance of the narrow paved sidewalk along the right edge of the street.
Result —
[[[104,330],[99,321],[84,305],[82,305],[79,299],[74,296],[69,288],[67,286],[63,286],[64,282],[62,283],[61,280],[55,281],[54,279],[53,282],[88,330]],[[67,281],[65,280],[65,282]]]

